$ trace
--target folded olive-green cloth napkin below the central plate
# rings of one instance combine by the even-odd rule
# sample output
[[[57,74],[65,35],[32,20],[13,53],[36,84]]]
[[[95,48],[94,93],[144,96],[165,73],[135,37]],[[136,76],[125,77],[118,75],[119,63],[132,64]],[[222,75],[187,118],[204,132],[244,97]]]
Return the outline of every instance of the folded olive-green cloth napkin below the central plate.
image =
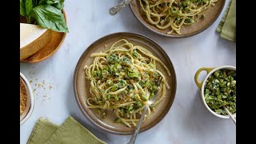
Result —
[[[27,144],[106,144],[72,117],[66,118],[61,126],[38,118]]]

